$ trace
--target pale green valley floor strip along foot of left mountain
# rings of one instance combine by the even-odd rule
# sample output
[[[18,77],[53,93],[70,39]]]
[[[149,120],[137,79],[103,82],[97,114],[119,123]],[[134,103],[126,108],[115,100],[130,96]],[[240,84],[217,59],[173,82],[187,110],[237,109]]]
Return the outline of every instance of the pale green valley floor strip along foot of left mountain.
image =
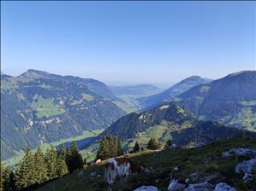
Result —
[[[49,148],[51,145],[53,146],[57,146],[59,144],[65,143],[65,142],[72,142],[72,141],[78,141],[81,139],[85,139],[88,137],[93,137],[93,136],[98,136],[100,133],[102,133],[104,131],[104,129],[100,129],[100,130],[85,130],[83,131],[82,135],[80,136],[74,136],[74,137],[70,137],[67,139],[62,139],[58,142],[51,142],[51,143],[43,143],[40,145],[40,147],[42,148],[43,152],[46,151],[47,148]],[[33,152],[36,149],[33,149]],[[19,151],[15,157],[11,158],[11,159],[7,159],[3,161],[4,165],[10,165],[13,166],[15,164],[18,164],[19,161],[24,157],[25,153],[23,151]],[[83,154],[83,157],[86,157],[85,154]]]

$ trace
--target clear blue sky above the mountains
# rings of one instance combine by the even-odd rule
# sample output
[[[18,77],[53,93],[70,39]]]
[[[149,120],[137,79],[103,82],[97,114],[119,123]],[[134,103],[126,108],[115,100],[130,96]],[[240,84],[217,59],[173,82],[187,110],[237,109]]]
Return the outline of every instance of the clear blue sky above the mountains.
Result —
[[[1,2],[1,70],[170,84],[255,70],[253,2]]]

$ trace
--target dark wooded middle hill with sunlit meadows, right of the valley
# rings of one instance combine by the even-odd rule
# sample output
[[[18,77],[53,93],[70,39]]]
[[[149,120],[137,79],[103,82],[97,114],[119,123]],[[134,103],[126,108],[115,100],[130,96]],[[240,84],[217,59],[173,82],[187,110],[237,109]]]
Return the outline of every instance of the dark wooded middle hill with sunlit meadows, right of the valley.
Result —
[[[151,137],[163,145],[168,140],[180,147],[198,147],[217,140],[256,133],[224,126],[212,121],[199,121],[185,107],[171,101],[142,113],[129,113],[111,124],[85,148],[96,148],[102,137],[112,135],[122,140],[125,150],[131,150],[135,142],[146,148]]]

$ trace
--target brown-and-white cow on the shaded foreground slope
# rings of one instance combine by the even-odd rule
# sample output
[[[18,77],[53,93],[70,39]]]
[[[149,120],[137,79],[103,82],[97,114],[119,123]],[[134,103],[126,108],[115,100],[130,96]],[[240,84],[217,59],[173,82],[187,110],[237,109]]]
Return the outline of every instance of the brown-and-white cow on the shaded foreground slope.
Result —
[[[143,167],[138,165],[131,159],[112,158],[105,165],[104,177],[108,183],[108,190],[111,190],[112,184],[115,182],[116,176],[120,177],[121,184],[127,181],[130,172],[140,173]]]

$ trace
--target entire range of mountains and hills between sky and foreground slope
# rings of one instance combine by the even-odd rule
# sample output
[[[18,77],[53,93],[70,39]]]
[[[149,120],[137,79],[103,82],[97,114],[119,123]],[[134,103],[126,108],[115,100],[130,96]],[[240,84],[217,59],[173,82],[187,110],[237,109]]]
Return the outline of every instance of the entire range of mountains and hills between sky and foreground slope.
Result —
[[[1,159],[84,130],[105,129],[79,140],[80,149],[109,134],[118,136],[126,149],[135,141],[146,145],[152,136],[190,147],[242,132],[252,135],[244,130],[256,130],[255,87],[255,71],[212,81],[192,76],[147,97],[160,89],[146,84],[109,88],[91,78],[36,70],[18,77],[1,74]]]

